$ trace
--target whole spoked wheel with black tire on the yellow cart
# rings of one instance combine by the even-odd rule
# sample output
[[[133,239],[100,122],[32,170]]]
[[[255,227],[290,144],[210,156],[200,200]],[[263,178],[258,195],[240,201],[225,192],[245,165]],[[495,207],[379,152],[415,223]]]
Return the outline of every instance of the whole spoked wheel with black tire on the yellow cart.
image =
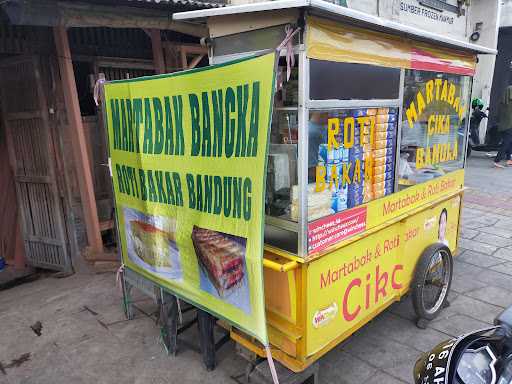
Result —
[[[452,283],[450,249],[433,244],[420,257],[412,283],[412,303],[419,319],[433,320],[444,308]]]

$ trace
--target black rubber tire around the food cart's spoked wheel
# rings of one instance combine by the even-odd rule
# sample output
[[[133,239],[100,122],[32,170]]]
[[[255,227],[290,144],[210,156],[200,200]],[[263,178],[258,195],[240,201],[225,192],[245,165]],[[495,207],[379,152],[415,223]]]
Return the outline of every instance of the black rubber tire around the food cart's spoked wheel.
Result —
[[[425,311],[425,308],[423,308],[422,305],[422,290],[425,285],[425,274],[427,272],[427,268],[430,265],[430,260],[432,259],[433,255],[440,251],[444,250],[448,254],[448,264],[449,264],[449,273],[450,278],[448,280],[448,289],[446,291],[446,295],[443,298],[442,304],[439,306],[439,309],[434,313],[429,313]],[[452,277],[453,277],[453,258],[452,253],[450,252],[450,249],[441,243],[432,244],[429,247],[427,247],[423,253],[421,254],[420,259],[418,260],[418,263],[416,264],[416,270],[414,271],[414,278],[411,284],[411,290],[412,290],[412,305],[414,307],[414,312],[416,312],[416,315],[419,319],[425,319],[425,320],[433,320],[437,317],[439,312],[444,308],[444,303],[448,299],[448,294],[450,293],[450,287],[452,284]]]

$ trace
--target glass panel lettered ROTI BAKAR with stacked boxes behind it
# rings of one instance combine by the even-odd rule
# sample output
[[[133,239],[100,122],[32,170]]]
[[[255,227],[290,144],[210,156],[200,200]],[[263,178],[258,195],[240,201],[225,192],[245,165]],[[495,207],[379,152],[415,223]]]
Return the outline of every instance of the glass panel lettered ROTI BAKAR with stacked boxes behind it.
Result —
[[[308,219],[393,193],[398,108],[310,111]]]

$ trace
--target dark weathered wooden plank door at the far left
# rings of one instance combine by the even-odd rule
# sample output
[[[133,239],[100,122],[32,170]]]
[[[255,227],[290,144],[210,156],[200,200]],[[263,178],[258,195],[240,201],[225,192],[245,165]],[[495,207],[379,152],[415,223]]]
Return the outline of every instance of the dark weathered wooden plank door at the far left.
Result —
[[[71,270],[38,57],[0,61],[0,105],[29,264]]]

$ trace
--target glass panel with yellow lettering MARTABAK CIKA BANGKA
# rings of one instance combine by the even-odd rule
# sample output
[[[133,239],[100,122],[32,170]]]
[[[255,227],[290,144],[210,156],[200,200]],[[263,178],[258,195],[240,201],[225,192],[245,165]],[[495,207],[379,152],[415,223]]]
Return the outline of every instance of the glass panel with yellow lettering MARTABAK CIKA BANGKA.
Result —
[[[404,87],[399,184],[462,168],[471,78],[406,70]]]

